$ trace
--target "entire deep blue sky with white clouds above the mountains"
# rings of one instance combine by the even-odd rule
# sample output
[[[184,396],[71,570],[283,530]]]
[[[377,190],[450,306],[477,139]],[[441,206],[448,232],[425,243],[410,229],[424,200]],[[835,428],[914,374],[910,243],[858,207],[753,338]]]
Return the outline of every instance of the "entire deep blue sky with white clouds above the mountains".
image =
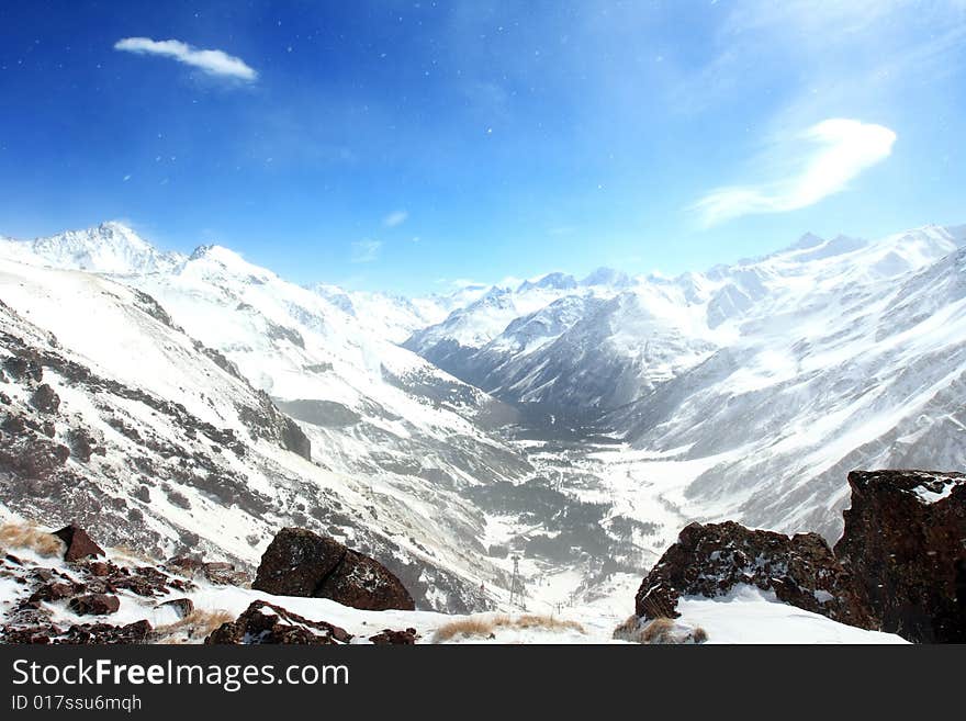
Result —
[[[404,293],[704,269],[966,222],[964,75],[964,0],[3,3],[0,234]]]

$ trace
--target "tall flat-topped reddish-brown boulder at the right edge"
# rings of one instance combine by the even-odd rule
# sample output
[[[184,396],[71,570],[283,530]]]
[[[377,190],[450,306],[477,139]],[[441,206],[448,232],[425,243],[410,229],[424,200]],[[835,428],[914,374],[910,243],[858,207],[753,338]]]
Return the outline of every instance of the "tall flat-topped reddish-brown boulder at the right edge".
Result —
[[[835,554],[881,630],[966,642],[966,475],[854,471]]]

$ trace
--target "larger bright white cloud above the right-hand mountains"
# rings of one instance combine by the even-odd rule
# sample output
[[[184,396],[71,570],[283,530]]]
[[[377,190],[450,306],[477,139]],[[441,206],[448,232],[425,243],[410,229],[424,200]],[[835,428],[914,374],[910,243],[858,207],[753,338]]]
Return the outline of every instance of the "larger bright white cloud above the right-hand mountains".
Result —
[[[743,215],[785,213],[813,205],[846,189],[863,170],[889,157],[896,134],[888,127],[834,117],[812,125],[798,138],[809,149],[791,150],[793,171],[780,180],[749,185],[728,185],[711,191],[690,210],[704,227]],[[770,165],[783,165],[789,155],[777,147],[779,157]]]

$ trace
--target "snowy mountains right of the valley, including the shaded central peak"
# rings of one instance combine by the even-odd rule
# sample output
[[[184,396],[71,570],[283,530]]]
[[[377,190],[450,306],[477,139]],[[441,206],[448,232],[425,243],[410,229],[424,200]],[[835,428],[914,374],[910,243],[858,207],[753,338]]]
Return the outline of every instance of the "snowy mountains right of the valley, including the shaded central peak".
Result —
[[[406,346],[531,424],[624,439],[595,458],[615,464],[630,517],[663,508],[669,523],[735,518],[834,540],[847,471],[966,464],[964,244],[963,226],[807,234],[677,278],[597,271],[609,296],[583,294],[585,280],[495,333],[516,307],[507,292],[505,315],[468,306]]]

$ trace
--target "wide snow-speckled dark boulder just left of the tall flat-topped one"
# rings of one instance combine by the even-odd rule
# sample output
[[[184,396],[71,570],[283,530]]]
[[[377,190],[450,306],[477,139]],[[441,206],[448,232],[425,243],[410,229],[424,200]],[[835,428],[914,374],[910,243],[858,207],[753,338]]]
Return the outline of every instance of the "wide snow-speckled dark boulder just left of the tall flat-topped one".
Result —
[[[714,598],[739,584],[772,590],[779,600],[842,623],[876,627],[850,574],[818,533],[789,538],[733,521],[685,527],[641,584],[637,615],[677,618],[681,596]]]

